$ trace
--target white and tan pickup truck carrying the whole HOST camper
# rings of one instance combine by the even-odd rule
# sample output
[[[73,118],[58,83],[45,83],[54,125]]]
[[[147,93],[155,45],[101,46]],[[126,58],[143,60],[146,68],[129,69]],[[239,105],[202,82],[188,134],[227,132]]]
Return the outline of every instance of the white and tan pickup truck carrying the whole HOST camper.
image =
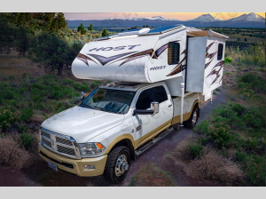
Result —
[[[80,105],[45,120],[39,154],[56,171],[120,183],[146,148],[174,127],[196,125],[200,100],[222,85],[226,38],[176,26],[85,44],[72,64],[74,76],[114,83],[82,94]]]

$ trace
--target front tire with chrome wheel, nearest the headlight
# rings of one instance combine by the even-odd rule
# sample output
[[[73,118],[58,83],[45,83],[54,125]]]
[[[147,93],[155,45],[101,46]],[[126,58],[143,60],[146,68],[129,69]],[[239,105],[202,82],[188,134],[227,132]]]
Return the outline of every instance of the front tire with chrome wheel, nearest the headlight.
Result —
[[[126,157],[126,160],[125,160]],[[127,162],[128,165],[125,166]],[[106,168],[104,177],[112,184],[119,184],[125,179],[127,172],[129,171],[130,164],[130,151],[128,147],[119,146],[115,147],[108,155],[106,160]],[[122,170],[126,171],[122,171]]]

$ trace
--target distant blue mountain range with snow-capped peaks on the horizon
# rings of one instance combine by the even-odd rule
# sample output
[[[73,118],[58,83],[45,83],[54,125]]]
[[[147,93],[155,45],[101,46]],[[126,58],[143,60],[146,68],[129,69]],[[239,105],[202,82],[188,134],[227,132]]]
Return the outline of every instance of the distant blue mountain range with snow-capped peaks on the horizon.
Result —
[[[68,27],[77,27],[81,23],[85,27],[90,23],[94,27],[142,27],[148,25],[150,27],[160,27],[174,24],[184,24],[192,27],[229,27],[229,28],[265,28],[265,18],[251,12],[244,13],[236,18],[230,20],[222,20],[213,16],[212,14],[202,14],[200,17],[193,20],[176,20],[167,19],[162,16],[154,16],[150,18],[131,18],[131,19],[112,19],[106,20],[66,20]]]

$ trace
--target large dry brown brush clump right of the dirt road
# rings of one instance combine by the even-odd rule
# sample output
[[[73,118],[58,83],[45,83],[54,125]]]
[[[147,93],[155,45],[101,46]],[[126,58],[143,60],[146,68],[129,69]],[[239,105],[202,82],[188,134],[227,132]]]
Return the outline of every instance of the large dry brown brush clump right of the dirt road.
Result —
[[[214,149],[203,147],[200,155],[192,159],[189,147],[195,143],[195,139],[189,137],[184,139],[169,155],[168,158],[174,160],[176,165],[183,167],[188,176],[194,179],[217,180],[224,184],[231,185],[243,177],[243,171],[239,165],[219,155]],[[231,151],[233,156],[234,151]]]

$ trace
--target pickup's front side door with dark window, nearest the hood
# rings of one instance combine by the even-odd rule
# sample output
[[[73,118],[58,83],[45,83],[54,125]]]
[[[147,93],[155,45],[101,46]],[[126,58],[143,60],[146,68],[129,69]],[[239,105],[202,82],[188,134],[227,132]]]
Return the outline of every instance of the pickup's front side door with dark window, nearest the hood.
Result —
[[[153,99],[152,89],[146,89],[138,95],[135,108],[149,110],[151,109],[151,103],[153,101],[155,101],[155,99]],[[145,140],[149,139],[153,131],[157,128],[157,114],[132,115],[132,119],[136,128],[135,145],[139,147]]]

